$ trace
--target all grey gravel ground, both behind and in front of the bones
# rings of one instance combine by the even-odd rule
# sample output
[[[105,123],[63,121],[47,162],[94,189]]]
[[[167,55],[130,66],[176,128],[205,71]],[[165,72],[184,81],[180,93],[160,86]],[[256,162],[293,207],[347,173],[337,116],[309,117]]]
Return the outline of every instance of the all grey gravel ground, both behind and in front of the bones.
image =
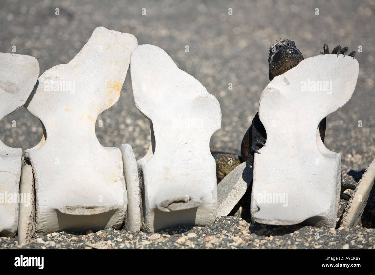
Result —
[[[60,15],[55,15],[55,8]],[[146,15],[141,9],[146,8]],[[228,8],[233,15],[228,15]],[[319,8],[320,15],[314,15]],[[0,0],[0,52],[36,57],[40,74],[69,62],[95,27],[132,33],[139,44],[164,49],[182,70],[198,79],[220,102],[222,128],[211,145],[239,149],[269,83],[268,51],[276,39],[296,42],[305,58],[327,43],[357,51],[360,64],[351,100],[327,117],[325,144],[342,155],[344,182],[357,183],[375,158],[375,2],[368,1],[31,1]],[[186,53],[185,46],[190,52]],[[233,83],[233,90],[228,90]],[[12,127],[16,120],[17,127]],[[132,145],[136,158],[147,151],[147,120],[136,109],[130,75],[120,100],[99,115],[96,134],[103,146]],[[362,120],[363,127],[358,127]],[[0,139],[28,149],[42,137],[39,120],[21,107],[0,121]],[[25,248],[375,248],[375,197],[362,223],[365,228],[321,229],[249,223],[248,199],[234,216],[205,227],[176,227],[156,234],[102,230],[87,235],[60,232]],[[342,201],[342,203],[344,203]],[[230,234],[231,233],[231,234]],[[143,236],[143,238],[142,238]],[[146,239],[144,239],[144,236]],[[2,248],[20,248],[16,238],[0,238]]]

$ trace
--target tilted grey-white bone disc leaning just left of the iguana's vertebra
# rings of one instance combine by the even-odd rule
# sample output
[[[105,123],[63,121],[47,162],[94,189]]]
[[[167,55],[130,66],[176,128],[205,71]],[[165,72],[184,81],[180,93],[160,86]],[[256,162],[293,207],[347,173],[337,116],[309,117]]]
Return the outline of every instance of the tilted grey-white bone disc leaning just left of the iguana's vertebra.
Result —
[[[253,170],[243,162],[217,184],[217,217],[228,216],[245,195],[252,180]]]

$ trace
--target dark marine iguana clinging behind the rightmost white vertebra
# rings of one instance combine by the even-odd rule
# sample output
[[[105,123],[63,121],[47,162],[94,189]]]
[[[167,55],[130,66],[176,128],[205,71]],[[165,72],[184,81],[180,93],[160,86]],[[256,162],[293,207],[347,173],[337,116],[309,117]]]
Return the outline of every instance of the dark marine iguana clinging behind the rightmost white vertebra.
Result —
[[[345,55],[348,52],[348,47],[341,48],[337,46],[333,49],[331,54]],[[324,44],[323,52],[319,54],[329,54],[328,45]],[[356,52],[350,52],[349,56],[353,57]],[[270,81],[280,75],[296,67],[299,62],[303,60],[303,55],[299,49],[297,49],[296,44],[290,39],[276,40],[270,47],[269,51],[269,78]],[[326,134],[326,118],[321,120],[319,124],[319,132],[322,141],[324,142],[324,135]],[[237,165],[246,161],[246,165],[253,166],[254,164],[254,154],[259,153],[258,150],[266,146],[267,133],[264,129],[262,122],[259,119],[259,113],[257,112],[252,120],[251,126],[248,131],[246,131],[241,143],[241,153],[240,155],[234,153],[230,149],[220,149],[211,147],[211,153],[216,161],[216,177],[217,182],[222,180],[225,175],[229,174]]]

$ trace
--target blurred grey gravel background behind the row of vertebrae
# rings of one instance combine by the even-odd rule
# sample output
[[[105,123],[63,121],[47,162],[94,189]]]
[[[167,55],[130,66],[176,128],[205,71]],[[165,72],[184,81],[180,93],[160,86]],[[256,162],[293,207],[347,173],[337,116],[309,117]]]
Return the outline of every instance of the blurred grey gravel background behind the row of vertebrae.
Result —
[[[56,8],[60,15],[55,15]],[[228,15],[229,8],[233,15]],[[375,158],[374,15],[374,0],[0,0],[0,52],[12,52],[15,45],[17,54],[37,58],[42,74],[74,58],[98,26],[131,33],[139,45],[164,49],[219,100],[222,127],[211,145],[239,149],[269,83],[267,58],[275,40],[294,40],[305,58],[318,55],[324,43],[330,51],[348,46],[349,52],[357,51],[359,79],[351,100],[327,117],[325,144],[342,154],[343,171],[360,177]],[[103,146],[129,143],[137,159],[147,152],[149,125],[135,107],[130,71],[120,100],[98,120],[103,121],[102,128],[96,123]],[[41,137],[39,119],[24,107],[0,121],[0,139],[8,146],[28,149]]]

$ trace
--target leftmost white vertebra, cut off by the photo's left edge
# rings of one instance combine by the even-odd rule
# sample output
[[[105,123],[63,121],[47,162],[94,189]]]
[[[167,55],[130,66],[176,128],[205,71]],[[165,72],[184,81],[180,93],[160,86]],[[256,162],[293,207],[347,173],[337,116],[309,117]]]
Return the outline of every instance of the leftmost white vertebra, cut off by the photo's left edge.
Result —
[[[33,56],[0,53],[0,68],[2,119],[26,102],[39,76],[39,63]],[[0,141],[0,236],[15,235],[18,202],[27,204],[27,194],[25,198],[18,195],[21,158],[21,148],[8,147]]]

